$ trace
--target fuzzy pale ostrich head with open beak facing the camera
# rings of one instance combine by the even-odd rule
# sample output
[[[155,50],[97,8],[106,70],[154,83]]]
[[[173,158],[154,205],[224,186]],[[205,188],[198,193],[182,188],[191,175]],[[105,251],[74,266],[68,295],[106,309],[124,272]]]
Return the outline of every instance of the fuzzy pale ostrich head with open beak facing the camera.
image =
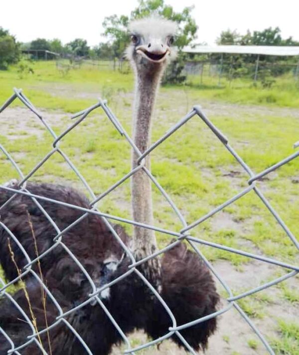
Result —
[[[171,48],[177,25],[169,20],[148,17],[131,22],[131,45],[127,57],[138,74],[161,74],[170,59],[175,57]]]

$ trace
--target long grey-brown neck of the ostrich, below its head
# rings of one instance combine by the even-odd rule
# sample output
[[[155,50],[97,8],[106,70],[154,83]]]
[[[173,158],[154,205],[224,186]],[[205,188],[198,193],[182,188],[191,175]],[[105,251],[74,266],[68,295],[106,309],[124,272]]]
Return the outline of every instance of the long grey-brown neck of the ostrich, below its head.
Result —
[[[158,70],[156,70],[158,69]],[[155,68],[146,74],[137,70],[135,89],[135,108],[133,117],[134,142],[143,153],[150,144],[151,116],[159,86],[163,67]],[[138,155],[133,151],[132,167],[136,167]],[[150,170],[149,156],[146,157],[146,167]],[[151,182],[143,170],[132,177],[133,217],[137,222],[153,224]],[[134,248],[136,258],[141,259],[157,250],[154,232],[141,227],[134,227]],[[152,265],[151,265],[152,266]],[[158,265],[156,265],[158,267]]]

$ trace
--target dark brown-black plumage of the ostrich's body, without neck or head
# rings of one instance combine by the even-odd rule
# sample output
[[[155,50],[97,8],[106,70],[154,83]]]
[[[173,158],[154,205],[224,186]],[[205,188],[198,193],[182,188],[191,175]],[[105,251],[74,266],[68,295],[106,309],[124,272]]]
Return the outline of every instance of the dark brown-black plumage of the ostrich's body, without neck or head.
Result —
[[[86,208],[89,206],[88,200],[81,193],[68,187],[28,183],[27,189],[36,195]],[[0,205],[10,196],[11,193],[0,190]],[[82,215],[80,211],[57,204],[45,201],[40,201],[40,204],[61,230]],[[1,221],[18,238],[30,258],[34,258],[36,252],[27,211],[33,224],[38,253],[42,253],[52,245],[52,239],[57,232],[49,221],[40,214],[39,209],[36,209],[30,198],[17,196],[1,211]],[[124,229],[118,225],[114,228],[124,243],[128,245],[129,237]],[[62,240],[84,265],[98,287],[128,270],[129,258],[126,256],[122,259],[123,248],[103,220],[96,215],[86,217],[76,227],[63,234]],[[0,262],[5,276],[11,280],[16,277],[17,273],[8,250],[7,233],[3,229],[0,229],[0,243]],[[17,265],[22,267],[26,260],[12,240],[10,240],[10,244]],[[118,261],[122,259],[115,271],[107,269],[104,264],[104,261],[111,259],[112,256]],[[62,247],[57,246],[40,261],[44,282],[64,312],[88,299],[91,287],[82,271]],[[216,311],[219,296],[211,274],[198,255],[187,250],[183,243],[163,254],[161,258],[161,286],[160,295],[173,312],[178,325]],[[35,279],[28,277],[26,287],[37,319],[37,327],[42,330],[45,328],[45,314],[40,285]],[[30,318],[24,292],[22,290],[16,292],[13,298]],[[163,306],[135,272],[111,286],[110,297],[102,301],[125,334],[129,334],[135,329],[143,329],[150,337],[156,339],[166,334],[168,327],[172,325]],[[49,325],[55,322],[58,315],[56,307],[49,298],[46,300],[46,315]],[[81,335],[94,355],[107,355],[114,344],[122,341],[120,334],[98,303],[90,303],[71,313],[66,319]],[[24,343],[26,336],[30,334],[28,324],[22,320],[19,311],[7,299],[0,301],[0,327],[11,337],[15,346]],[[212,318],[180,333],[195,350],[198,350],[207,347],[208,337],[215,329],[216,319]],[[84,348],[79,340],[62,322],[49,331],[49,336],[53,355],[84,354]],[[176,336],[173,336],[172,339],[182,346]],[[41,336],[41,341],[47,351],[46,334]],[[6,354],[8,349],[10,349],[9,343],[3,335],[0,335],[0,355]],[[22,350],[24,355],[35,355],[39,352],[40,350],[33,343]]]

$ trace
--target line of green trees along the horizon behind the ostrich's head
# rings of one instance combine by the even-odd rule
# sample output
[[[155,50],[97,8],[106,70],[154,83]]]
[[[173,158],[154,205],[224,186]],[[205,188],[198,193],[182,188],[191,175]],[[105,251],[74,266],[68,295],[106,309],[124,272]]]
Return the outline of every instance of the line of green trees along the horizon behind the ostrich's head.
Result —
[[[175,45],[178,47],[178,58],[169,67],[169,75],[173,76],[176,81],[183,81],[184,76],[181,74],[184,60],[186,57],[181,49],[196,40],[197,25],[192,17],[192,6],[185,7],[181,12],[175,12],[173,7],[165,4],[164,0],[139,0],[138,6],[131,12],[130,16],[111,15],[105,17],[103,21],[104,35],[106,42],[101,42],[97,46],[88,46],[87,40],[76,38],[73,41],[63,44],[60,39],[55,38],[47,40],[45,38],[37,38],[30,43],[18,43],[14,36],[9,34],[8,30],[0,27],[0,68],[7,68],[11,63],[15,63],[20,58],[20,50],[47,50],[58,53],[62,56],[77,56],[98,59],[122,58],[125,48],[130,41],[130,34],[127,26],[132,19],[141,18],[150,14],[158,14],[165,18],[171,19],[178,24],[178,34],[175,39]],[[224,30],[217,38],[217,44],[228,45],[299,45],[292,37],[282,38],[279,27],[269,27],[263,31],[247,31],[245,35],[241,35],[230,29]],[[43,53],[36,53],[38,57],[44,57]],[[202,59],[204,56],[193,56],[194,59]],[[220,60],[219,55],[212,55],[212,59]],[[192,57],[191,57],[192,59]],[[269,57],[267,58],[267,60]],[[224,61],[230,61],[230,69],[234,71],[242,71],[244,63],[253,63],[256,56],[229,56],[224,55]],[[266,57],[261,56],[261,62],[266,61]],[[275,60],[272,58],[270,60]],[[286,58],[287,60],[287,58]],[[224,71],[228,70],[224,67]]]

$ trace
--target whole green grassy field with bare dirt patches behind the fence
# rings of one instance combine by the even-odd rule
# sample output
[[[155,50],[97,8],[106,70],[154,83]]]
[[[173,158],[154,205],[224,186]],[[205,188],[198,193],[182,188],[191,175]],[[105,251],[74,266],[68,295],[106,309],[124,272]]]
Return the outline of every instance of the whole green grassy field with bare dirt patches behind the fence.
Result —
[[[55,62],[41,61],[31,65],[34,74],[20,74],[16,67],[0,71],[0,104],[12,94],[13,87],[22,88],[55,132],[60,133],[72,123],[70,113],[81,111],[102,97],[108,100],[112,111],[131,132],[134,82],[131,72],[114,71],[108,65],[82,65],[68,71],[57,68]],[[294,78],[288,75],[278,78],[271,89],[253,87],[252,83],[241,80],[233,81],[231,87],[224,79],[222,87],[218,87],[217,82],[218,78],[205,77],[201,85],[199,78],[193,77],[189,78],[191,85],[161,88],[153,118],[152,142],[198,104],[255,173],[294,153],[293,144],[299,140],[299,88]],[[50,151],[51,142],[50,134],[19,102],[0,114],[0,143],[24,174]],[[96,194],[104,192],[130,171],[130,146],[101,109],[64,137],[60,147]],[[248,176],[241,166],[198,118],[191,119],[155,149],[151,160],[153,175],[188,223],[248,186]],[[0,183],[11,178],[17,178],[17,174],[2,154]],[[58,153],[33,175],[32,180],[59,181],[82,188]],[[295,236],[299,234],[298,184],[299,158],[257,183]],[[153,189],[153,200],[155,225],[179,231],[179,220],[156,189]],[[99,208],[131,218],[130,182],[105,197]],[[132,232],[130,226],[125,227]],[[292,264],[299,259],[298,250],[253,191],[200,224],[192,230],[192,235]],[[162,234],[157,234],[157,238],[159,246],[171,239]],[[227,277],[229,284],[233,275],[242,278],[240,283],[238,280],[232,282],[236,294],[286,272],[280,267],[269,267],[220,249],[201,247],[201,250],[220,274]],[[227,273],[222,274],[223,270]],[[255,280],[253,274],[257,274]],[[298,286],[298,277],[292,278],[240,301],[240,306],[257,321],[277,354],[299,354],[298,338],[294,336],[299,327],[298,322],[296,324]],[[219,291],[222,292],[221,288]],[[225,293],[222,295],[227,297]],[[292,310],[290,314],[286,314],[286,309]],[[292,331],[287,329],[288,322],[292,324]],[[245,350],[234,348],[237,341],[241,342],[240,336],[234,340],[233,335],[222,333],[221,354],[265,354],[260,343],[256,345],[250,330],[248,333],[244,336],[246,341],[242,341],[247,344]],[[150,354],[150,351],[145,353]]]

